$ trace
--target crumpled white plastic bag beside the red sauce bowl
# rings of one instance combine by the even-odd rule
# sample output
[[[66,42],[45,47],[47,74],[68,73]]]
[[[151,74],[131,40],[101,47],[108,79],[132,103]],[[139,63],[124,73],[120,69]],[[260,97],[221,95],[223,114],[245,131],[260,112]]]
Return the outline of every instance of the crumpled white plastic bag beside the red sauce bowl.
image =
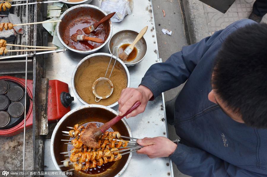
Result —
[[[110,19],[112,22],[120,22],[126,15],[130,15],[134,8],[133,0],[102,0],[101,7],[107,14],[116,12]]]

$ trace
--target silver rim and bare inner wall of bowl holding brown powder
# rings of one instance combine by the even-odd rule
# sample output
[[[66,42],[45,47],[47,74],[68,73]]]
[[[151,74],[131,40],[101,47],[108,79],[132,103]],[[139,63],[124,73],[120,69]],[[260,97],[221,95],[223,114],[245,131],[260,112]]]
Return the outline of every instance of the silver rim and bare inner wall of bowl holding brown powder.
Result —
[[[75,75],[77,73],[77,71],[83,67],[83,64],[85,64],[85,61],[88,61],[92,58],[107,58],[107,62],[110,61],[110,58],[111,58],[111,54],[109,53],[94,53],[94,54],[91,54],[85,58],[83,58],[78,64],[77,66],[75,67],[73,73],[72,73],[72,77],[71,77],[71,86],[72,86],[72,89],[74,91],[74,94],[75,96],[80,100],[80,102],[82,102],[83,104],[85,105],[88,105],[89,103],[85,102],[81,97],[80,95],[78,94],[77,90],[76,90],[76,87],[75,87]],[[113,56],[112,57],[112,60],[115,61],[116,57]],[[120,59],[117,59],[116,61],[116,64],[120,64],[120,66],[124,69],[125,71],[125,74],[126,74],[126,78],[127,78],[127,87],[130,87],[130,73],[129,73],[129,70],[128,68],[125,66],[125,64],[123,63],[123,61],[121,61]],[[111,66],[110,66],[111,67]],[[93,85],[93,84],[92,84]],[[113,103],[112,105],[108,105],[107,107],[109,108],[112,108],[114,106],[118,105],[118,102],[115,102]]]

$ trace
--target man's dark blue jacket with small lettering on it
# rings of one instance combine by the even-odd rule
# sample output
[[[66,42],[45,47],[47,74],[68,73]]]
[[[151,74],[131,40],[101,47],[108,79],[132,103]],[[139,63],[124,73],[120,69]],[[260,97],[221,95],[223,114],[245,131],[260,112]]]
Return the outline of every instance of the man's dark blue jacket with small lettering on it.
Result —
[[[234,121],[208,99],[218,50],[230,33],[251,23],[255,22],[236,21],[182,48],[166,62],[152,65],[142,79],[141,85],[154,97],[187,80],[175,102],[174,126],[190,146],[178,144],[170,156],[182,173],[197,177],[267,176],[267,129]]]

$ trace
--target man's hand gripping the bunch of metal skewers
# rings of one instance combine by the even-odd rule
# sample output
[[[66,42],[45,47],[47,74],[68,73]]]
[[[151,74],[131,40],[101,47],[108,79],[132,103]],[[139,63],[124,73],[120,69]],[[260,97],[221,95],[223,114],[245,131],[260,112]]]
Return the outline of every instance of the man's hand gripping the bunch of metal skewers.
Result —
[[[177,144],[162,136],[139,139],[137,143],[145,146],[138,150],[137,153],[147,154],[149,158],[169,157],[177,148]]]

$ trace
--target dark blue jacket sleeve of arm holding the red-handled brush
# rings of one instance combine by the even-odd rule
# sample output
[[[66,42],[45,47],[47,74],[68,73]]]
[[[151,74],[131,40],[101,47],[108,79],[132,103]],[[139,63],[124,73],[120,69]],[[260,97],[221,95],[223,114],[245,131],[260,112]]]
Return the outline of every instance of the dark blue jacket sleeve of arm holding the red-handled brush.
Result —
[[[212,36],[206,37],[196,44],[183,47],[181,51],[172,54],[164,63],[153,64],[142,78],[140,85],[149,88],[154,98],[164,91],[181,85],[189,78],[221,31],[215,32]]]

